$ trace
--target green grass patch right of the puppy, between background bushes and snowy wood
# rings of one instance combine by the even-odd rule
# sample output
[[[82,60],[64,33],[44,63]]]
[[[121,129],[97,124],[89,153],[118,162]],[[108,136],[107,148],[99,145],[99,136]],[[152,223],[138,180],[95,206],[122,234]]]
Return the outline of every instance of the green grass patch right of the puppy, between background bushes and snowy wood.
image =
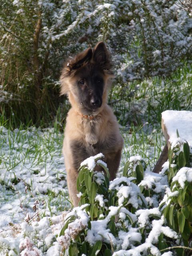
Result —
[[[110,105],[122,126],[149,122],[160,128],[164,110],[192,110],[191,66],[183,66],[170,78],[154,77],[143,82],[115,85]]]

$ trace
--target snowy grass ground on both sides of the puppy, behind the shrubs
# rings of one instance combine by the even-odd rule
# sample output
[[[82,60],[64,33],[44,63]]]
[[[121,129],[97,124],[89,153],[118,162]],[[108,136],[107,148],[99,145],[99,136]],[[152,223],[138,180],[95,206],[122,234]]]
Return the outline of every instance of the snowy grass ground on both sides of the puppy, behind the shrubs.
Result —
[[[0,127],[1,255],[6,251],[7,255],[16,255],[21,248],[33,248],[41,255],[38,248],[43,246],[46,251],[56,240],[63,226],[63,213],[71,207],[62,139],[63,134],[54,128],[10,131]],[[120,169],[132,154],[142,153],[143,158],[154,161],[162,135],[153,130],[144,144],[143,133],[127,131],[124,140]]]

